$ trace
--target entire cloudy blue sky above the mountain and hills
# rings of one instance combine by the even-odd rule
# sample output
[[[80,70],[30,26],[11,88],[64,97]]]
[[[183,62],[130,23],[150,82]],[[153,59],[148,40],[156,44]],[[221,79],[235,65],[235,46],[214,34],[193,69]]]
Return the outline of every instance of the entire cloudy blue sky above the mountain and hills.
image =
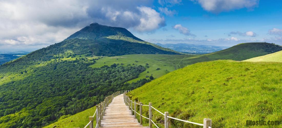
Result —
[[[151,43],[282,45],[281,0],[0,0],[0,51],[47,47],[91,23]]]

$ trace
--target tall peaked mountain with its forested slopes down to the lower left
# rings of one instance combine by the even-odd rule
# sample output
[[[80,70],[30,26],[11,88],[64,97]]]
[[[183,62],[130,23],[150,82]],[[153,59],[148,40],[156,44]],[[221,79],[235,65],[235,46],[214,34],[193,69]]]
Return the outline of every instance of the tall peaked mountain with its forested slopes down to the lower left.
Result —
[[[146,70],[142,65],[89,67],[101,56],[180,54],[124,28],[91,24],[74,35],[0,66],[0,127],[43,127],[91,108],[115,91],[151,81],[126,83]]]

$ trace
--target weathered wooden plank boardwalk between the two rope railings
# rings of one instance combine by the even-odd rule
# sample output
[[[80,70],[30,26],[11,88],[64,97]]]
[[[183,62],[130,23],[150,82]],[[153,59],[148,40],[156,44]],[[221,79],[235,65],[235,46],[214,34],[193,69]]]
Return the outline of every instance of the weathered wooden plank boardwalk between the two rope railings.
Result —
[[[134,119],[134,115],[131,115],[131,110],[125,105],[123,94],[121,94],[114,97],[111,104],[106,107],[105,116],[103,116],[103,119],[101,120],[101,127],[140,128],[143,126],[138,123],[137,119]]]

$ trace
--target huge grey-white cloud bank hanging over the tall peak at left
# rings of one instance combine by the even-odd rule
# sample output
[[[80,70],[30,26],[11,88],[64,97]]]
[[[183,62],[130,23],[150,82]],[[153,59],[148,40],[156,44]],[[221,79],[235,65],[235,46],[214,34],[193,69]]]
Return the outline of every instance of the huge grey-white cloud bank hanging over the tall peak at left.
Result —
[[[148,7],[152,3],[151,0],[0,0],[0,47],[42,48],[95,22],[151,32],[165,26],[164,17]]]

